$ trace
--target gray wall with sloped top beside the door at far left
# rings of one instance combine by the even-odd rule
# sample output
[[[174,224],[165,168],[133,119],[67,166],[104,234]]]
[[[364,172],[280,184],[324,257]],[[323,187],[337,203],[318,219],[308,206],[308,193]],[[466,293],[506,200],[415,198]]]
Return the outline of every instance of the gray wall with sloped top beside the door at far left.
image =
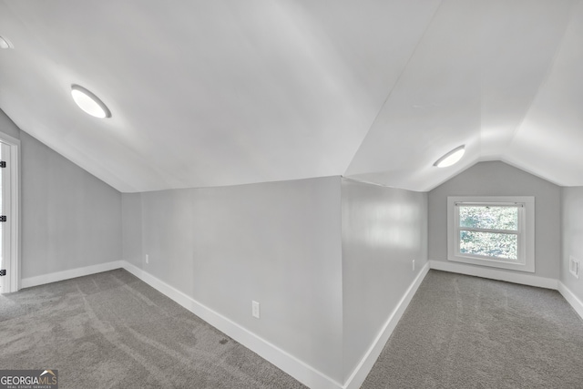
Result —
[[[2,111],[0,131],[21,141],[21,278],[120,260],[118,190],[21,131]]]

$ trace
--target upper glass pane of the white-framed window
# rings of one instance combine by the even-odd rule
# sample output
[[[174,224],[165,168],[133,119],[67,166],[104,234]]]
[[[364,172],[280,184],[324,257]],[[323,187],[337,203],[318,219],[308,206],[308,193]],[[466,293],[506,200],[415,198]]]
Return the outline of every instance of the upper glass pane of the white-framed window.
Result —
[[[471,229],[518,230],[517,207],[460,206],[459,225]]]

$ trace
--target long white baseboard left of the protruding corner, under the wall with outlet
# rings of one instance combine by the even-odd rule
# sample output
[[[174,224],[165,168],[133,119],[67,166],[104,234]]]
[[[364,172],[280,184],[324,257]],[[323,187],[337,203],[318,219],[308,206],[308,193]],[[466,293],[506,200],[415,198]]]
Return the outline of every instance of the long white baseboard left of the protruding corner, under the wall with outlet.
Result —
[[[315,370],[312,366],[303,363],[290,353],[285,352],[285,350],[282,350],[276,345],[262,339],[255,333],[251,333],[251,331],[241,327],[240,324],[231,321],[219,312],[212,311],[209,307],[197,302],[189,295],[180,292],[168,283],[159,280],[147,271],[143,271],[127,261],[122,262],[123,268],[134,274],[138,279],[148,283],[149,286],[162,294],[165,294],[173,301],[178,302],[181,306],[196,314],[205,322],[210,323],[210,325],[217,328],[219,331],[226,333],[237,342],[251,349],[254,353],[259,354],[262,358],[279,367],[285,373],[292,375],[293,378],[300,381],[302,384],[314,389],[343,388],[342,384],[339,384],[327,375]]]

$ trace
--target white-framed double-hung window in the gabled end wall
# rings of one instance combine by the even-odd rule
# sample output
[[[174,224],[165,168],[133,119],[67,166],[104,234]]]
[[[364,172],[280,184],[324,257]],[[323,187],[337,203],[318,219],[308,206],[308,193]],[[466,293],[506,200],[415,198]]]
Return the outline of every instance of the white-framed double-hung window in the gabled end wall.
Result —
[[[534,197],[448,197],[448,260],[534,272],[534,210]]]

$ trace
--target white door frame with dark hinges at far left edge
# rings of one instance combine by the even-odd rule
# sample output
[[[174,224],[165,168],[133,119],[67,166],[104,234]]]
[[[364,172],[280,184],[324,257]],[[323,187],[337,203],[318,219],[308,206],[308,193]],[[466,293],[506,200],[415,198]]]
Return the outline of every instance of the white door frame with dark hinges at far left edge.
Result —
[[[18,292],[20,289],[20,139],[0,132],[0,142],[8,146],[10,150],[8,159],[5,159],[5,169],[9,169],[10,179],[8,184],[9,193],[7,193],[9,204],[7,204],[8,207],[5,208],[4,212],[6,218],[10,220],[6,225],[10,238],[5,241],[9,246],[9,251],[5,253],[9,255],[10,260],[6,266],[5,291],[3,291],[9,293]]]

